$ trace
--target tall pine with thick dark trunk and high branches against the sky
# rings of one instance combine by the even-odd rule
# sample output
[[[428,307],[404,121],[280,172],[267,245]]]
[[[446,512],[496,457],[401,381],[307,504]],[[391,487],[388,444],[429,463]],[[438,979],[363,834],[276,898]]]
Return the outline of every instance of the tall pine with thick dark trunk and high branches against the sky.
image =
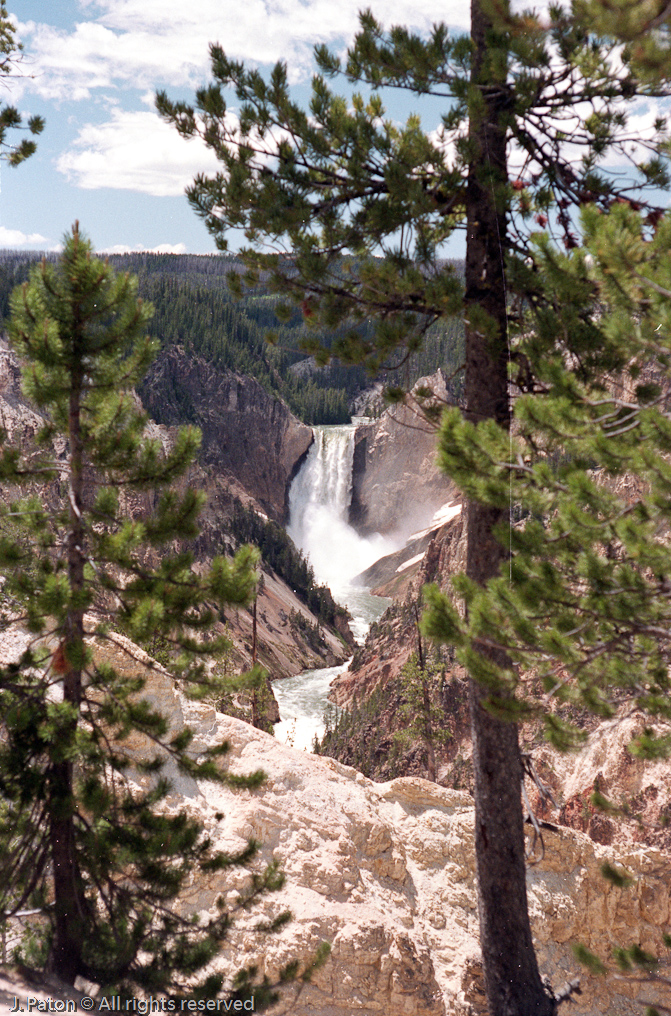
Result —
[[[330,352],[372,372],[412,356],[434,322],[464,315],[465,420],[482,427],[474,436],[452,426],[456,444],[446,464],[456,463],[460,479],[462,459],[488,456],[485,435],[507,441],[508,367],[516,366],[521,383],[527,369],[508,319],[511,301],[530,282],[530,234],[550,224],[574,249],[574,208],[592,203],[605,211],[622,196],[639,200],[642,185],[667,184],[658,153],[665,123],[640,137],[627,127],[626,108],[668,94],[668,78],[646,76],[616,39],[591,31],[590,16],[577,2],[551,8],[546,18],[474,0],[470,37],[436,25],[425,40],[403,27],[385,33],[370,12],[362,14],[347,76],[373,89],[443,97],[437,141],[419,116],[403,127],[385,119],[378,90],[349,101],[334,94],[326,76],[339,73],[341,62],[323,47],[309,112],[292,102],[284,65],[265,81],[218,46],[210,50],[215,82],[197,92],[195,108],[157,97],[166,119],[184,136],[199,134],[222,163],[221,173],[197,177],[187,193],[222,249],[228,230],[245,231],[241,256],[249,270],[243,280],[232,278],[234,290],[267,273],[309,326],[347,322]],[[227,88],[240,104],[239,123],[227,112]],[[631,155],[634,141],[643,154]],[[606,155],[627,163],[632,179],[609,174]],[[439,259],[440,245],[460,228],[463,282]],[[376,328],[363,333],[357,326],[371,317]],[[325,361],[316,339],[306,345]],[[595,351],[575,352],[589,360]],[[478,588],[507,559],[497,531],[508,506],[483,495],[485,482],[465,487],[467,576],[469,588]],[[509,663],[499,646],[479,638],[469,664],[489,1010],[550,1016],[556,1000],[542,983],[528,917],[517,733],[502,716],[512,691],[498,689],[498,715],[489,702],[489,686]]]

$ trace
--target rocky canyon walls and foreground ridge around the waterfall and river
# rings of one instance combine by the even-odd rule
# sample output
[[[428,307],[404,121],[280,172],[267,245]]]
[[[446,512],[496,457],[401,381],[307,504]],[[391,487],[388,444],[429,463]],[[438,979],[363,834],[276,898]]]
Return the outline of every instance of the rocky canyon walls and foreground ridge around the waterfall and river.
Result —
[[[436,387],[439,383],[438,377]],[[198,555],[235,547],[226,523],[236,503],[277,523],[288,521],[292,483],[315,443],[311,428],[253,379],[215,369],[179,347],[159,357],[142,395],[161,421],[148,426],[162,441],[170,442],[171,428],[185,416],[202,431],[201,456],[185,480],[207,496]],[[35,433],[41,424],[20,393],[17,367],[6,350],[0,351],[0,412],[12,439]],[[332,685],[331,698],[342,708],[393,685],[417,648],[416,624],[405,605],[418,601],[425,582],[445,582],[461,570],[465,550],[456,492],[439,474],[433,432],[417,426],[412,405],[392,407],[356,428],[351,469],[347,522],[363,537],[378,532],[394,544],[367,574],[376,591],[395,598],[350,670]],[[141,512],[141,499],[128,508]],[[337,556],[338,548],[330,553]],[[273,678],[352,654],[351,640],[319,625],[272,569],[263,569],[257,606],[255,647],[251,614],[239,611],[227,618],[232,666],[248,665],[254,648]],[[3,661],[20,642],[20,632],[4,633]],[[187,702],[170,674],[122,636],[96,651],[144,677],[143,695],[166,715],[171,731],[184,724],[194,731],[196,755],[199,748],[226,741],[234,773],[258,767],[266,772],[260,789],[234,790],[197,783],[167,765],[171,810],[197,816],[221,848],[257,839],[258,864],[278,861],[287,876],[280,893],[236,919],[218,960],[227,976],[243,962],[256,963],[259,975],[273,980],[285,963],[309,961],[327,941],[331,951],[324,966],[300,991],[284,990],[277,1016],[345,1016],[353,1008],[388,1016],[484,1016],[465,675],[456,665],[446,701],[452,736],[438,781],[423,778],[417,753],[411,753],[403,776],[373,780],[342,761],[280,744],[211,704]],[[389,736],[399,725],[393,711],[392,702],[377,719]],[[534,856],[529,867],[533,930],[541,968],[555,989],[581,976],[582,994],[571,1002],[576,1016],[634,1016],[644,1002],[661,1004],[668,992],[666,986],[593,975],[580,969],[571,952],[571,943],[581,942],[604,959],[616,944],[637,943],[662,953],[671,920],[665,826],[671,814],[670,769],[665,762],[645,765],[627,753],[642,722],[626,715],[608,726],[595,724],[586,747],[572,756],[550,752],[533,731],[523,731],[525,747],[534,750],[539,772],[560,805],[559,813],[547,809],[530,787],[536,813],[553,826],[544,833],[544,855]],[[146,745],[136,738],[125,750],[139,760]],[[137,773],[133,778],[138,785],[144,779]],[[596,813],[590,803],[595,787],[633,802],[636,818],[622,824]],[[601,874],[606,862],[626,870],[632,884],[618,888],[606,882]],[[224,884],[215,876],[194,877],[182,906],[205,913],[220,893],[234,903],[242,888],[239,875]],[[288,928],[259,936],[258,922],[287,908],[294,914]],[[12,990],[17,994],[16,983],[0,985],[0,1012],[10,1008]]]

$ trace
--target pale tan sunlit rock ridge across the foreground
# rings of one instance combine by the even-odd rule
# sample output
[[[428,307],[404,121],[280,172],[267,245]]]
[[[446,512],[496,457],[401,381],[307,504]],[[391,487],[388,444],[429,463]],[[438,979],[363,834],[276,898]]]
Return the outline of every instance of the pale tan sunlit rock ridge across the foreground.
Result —
[[[196,812],[218,846],[230,849],[254,837],[262,843],[262,860],[279,860],[287,876],[280,893],[236,923],[222,956],[229,973],[255,962],[274,978],[284,963],[307,959],[326,940],[331,954],[325,966],[298,997],[288,990],[277,1013],[482,1012],[468,793],[413,777],[373,783],[333,760],[297,752],[239,720],[185,703],[165,673],[154,673],[147,691],[173,723],[194,726],[195,751],[227,740],[234,772],[260,767],[267,774],[256,791],[196,785],[183,777],[175,782],[173,806]],[[631,888],[604,881],[600,866],[606,860],[633,875]],[[670,916],[670,875],[668,856],[654,848],[605,847],[571,829],[547,833],[545,859],[530,868],[528,879],[542,972],[555,987],[578,973],[570,949],[576,941],[604,958],[617,943],[659,951]],[[194,882],[184,905],[209,909],[220,893],[231,899],[235,888],[229,876]],[[294,920],[280,935],[263,940],[253,931],[259,909],[272,916],[286,908]],[[652,986],[635,990],[581,976],[575,1016],[633,1016],[643,1000],[662,1001]]]

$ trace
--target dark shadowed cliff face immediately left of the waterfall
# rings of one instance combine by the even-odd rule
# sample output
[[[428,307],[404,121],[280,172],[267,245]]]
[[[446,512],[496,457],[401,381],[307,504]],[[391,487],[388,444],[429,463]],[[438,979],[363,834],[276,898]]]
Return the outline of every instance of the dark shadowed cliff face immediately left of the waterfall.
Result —
[[[234,477],[271,518],[286,521],[289,487],[313,438],[284,402],[254,378],[180,346],[161,352],[141,397],[158,423],[200,428],[200,462]]]

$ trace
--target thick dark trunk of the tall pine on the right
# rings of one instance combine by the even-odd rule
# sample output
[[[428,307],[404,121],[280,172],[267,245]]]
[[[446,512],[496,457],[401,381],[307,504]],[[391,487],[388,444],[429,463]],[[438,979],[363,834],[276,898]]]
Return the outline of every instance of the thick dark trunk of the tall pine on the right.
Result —
[[[491,22],[480,0],[473,0],[471,14],[477,98],[471,102],[467,185],[466,415],[473,423],[491,419],[507,428],[507,90],[505,68],[489,61]],[[498,574],[506,556],[493,535],[505,515],[475,502],[467,506],[466,570],[480,584]],[[487,712],[483,695],[471,681],[478,909],[489,1016],[552,1016],[555,1005],[541,982],[527,907],[517,727]]]

